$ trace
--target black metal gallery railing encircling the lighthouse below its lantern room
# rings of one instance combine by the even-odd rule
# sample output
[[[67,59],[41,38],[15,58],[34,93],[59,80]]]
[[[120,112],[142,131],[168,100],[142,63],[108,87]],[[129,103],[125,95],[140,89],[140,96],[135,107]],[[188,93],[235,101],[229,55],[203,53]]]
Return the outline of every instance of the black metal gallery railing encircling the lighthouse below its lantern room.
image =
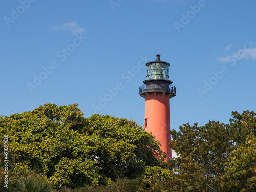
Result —
[[[176,95],[176,87],[169,86],[169,85],[163,85],[160,87],[154,84],[150,84],[148,86],[143,84],[143,86],[140,86],[140,94],[148,93],[148,92],[167,92],[167,93],[173,93]]]

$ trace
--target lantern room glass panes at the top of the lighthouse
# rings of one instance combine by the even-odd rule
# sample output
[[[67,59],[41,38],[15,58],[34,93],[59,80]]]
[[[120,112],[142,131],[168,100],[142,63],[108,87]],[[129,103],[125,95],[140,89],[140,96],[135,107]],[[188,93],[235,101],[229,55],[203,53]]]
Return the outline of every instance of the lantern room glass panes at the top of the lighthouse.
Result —
[[[147,80],[169,79],[169,66],[165,63],[151,63],[147,66]]]

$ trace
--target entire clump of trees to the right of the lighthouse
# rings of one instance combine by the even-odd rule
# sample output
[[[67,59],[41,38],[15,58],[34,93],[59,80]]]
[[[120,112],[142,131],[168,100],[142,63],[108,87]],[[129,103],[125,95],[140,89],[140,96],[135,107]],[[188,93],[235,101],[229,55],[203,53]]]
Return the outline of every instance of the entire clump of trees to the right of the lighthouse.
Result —
[[[253,111],[232,112],[229,124],[187,123],[172,130],[169,146],[180,157],[168,162],[169,179],[161,181],[155,174],[148,181],[161,188],[148,191],[255,191],[255,116]]]

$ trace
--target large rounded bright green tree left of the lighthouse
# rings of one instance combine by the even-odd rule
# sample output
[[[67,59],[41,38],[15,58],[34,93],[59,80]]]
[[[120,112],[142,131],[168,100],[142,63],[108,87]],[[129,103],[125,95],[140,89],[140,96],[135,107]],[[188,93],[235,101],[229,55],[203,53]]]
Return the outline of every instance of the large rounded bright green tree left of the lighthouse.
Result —
[[[49,103],[0,117],[0,132],[0,139],[9,137],[15,168],[28,167],[55,188],[137,178],[145,167],[161,166],[164,157],[159,143],[135,121],[99,114],[84,118],[77,104]]]

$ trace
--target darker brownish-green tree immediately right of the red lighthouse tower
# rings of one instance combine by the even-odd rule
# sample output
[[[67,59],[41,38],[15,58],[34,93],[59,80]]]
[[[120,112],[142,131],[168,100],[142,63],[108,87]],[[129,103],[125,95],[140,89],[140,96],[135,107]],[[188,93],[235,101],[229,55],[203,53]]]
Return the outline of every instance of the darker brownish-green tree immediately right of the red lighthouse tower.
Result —
[[[230,126],[209,121],[198,127],[184,124],[180,131],[172,131],[170,147],[180,157],[170,161],[170,167],[177,172],[175,184],[186,191],[216,190],[216,176],[224,172],[227,157],[234,149]]]

